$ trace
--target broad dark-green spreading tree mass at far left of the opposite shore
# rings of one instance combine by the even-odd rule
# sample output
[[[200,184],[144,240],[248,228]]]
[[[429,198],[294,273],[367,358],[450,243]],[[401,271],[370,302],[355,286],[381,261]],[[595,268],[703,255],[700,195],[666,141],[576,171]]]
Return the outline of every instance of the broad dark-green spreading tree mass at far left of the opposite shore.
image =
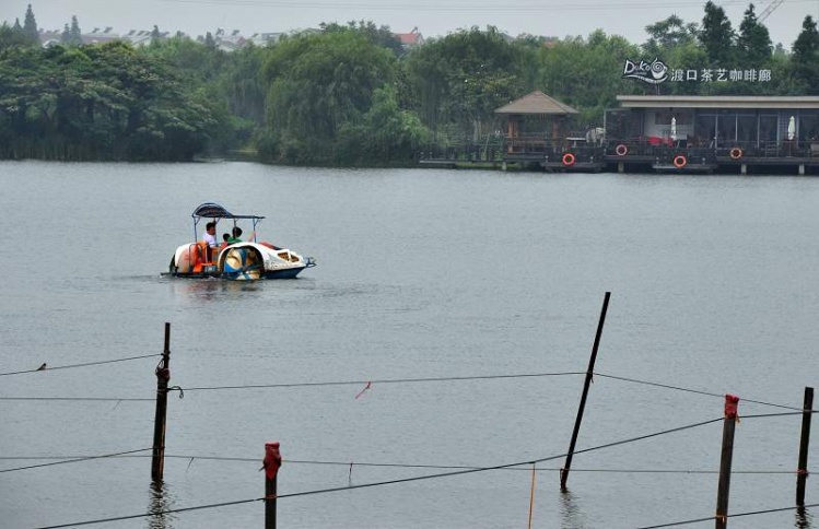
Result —
[[[218,125],[166,61],[121,43],[0,54],[2,157],[189,160]]]

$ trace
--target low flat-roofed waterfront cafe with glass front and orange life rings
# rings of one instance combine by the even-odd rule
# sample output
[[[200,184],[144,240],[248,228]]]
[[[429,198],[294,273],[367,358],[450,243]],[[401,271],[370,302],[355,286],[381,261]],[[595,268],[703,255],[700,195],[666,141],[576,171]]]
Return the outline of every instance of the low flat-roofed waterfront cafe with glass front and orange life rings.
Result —
[[[619,172],[819,173],[819,96],[619,95],[605,160]]]

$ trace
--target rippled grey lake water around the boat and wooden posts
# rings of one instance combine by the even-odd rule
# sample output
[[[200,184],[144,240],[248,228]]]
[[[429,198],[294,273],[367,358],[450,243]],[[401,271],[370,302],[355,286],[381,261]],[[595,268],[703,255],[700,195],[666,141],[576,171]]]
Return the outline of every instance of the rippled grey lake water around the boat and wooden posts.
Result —
[[[148,457],[2,472],[2,527],[259,498],[271,440],[283,496],[560,456],[582,375],[468,377],[584,372],[607,291],[577,449],[719,419],[726,392],[800,408],[819,381],[816,178],[24,162],[0,163],[0,372],[159,355],[168,321],[171,385],[187,388],[168,402],[161,490]],[[261,238],[318,266],[256,283],[160,277],[206,201],[266,215]],[[0,376],[0,470],[150,448],[152,401],[12,398],[151,399],[157,361]],[[451,379],[385,381],[429,378]],[[356,384],[191,389],[338,381]],[[578,454],[566,494],[563,458],[538,463],[533,527],[713,516],[722,430]],[[798,415],[737,424],[732,513],[794,505],[799,431]],[[520,528],[530,493],[525,465],[282,497],[278,522]],[[817,512],[729,526],[819,527]],[[107,527],[258,528],[264,505]]]

